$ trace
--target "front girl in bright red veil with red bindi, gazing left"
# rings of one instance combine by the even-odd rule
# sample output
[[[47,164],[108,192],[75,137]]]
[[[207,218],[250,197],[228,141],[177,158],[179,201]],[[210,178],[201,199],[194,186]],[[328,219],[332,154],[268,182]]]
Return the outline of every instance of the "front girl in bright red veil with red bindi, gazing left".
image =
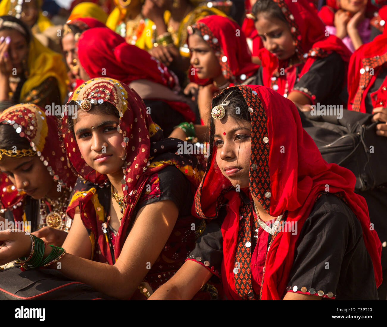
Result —
[[[195,195],[211,222],[151,299],[192,298],[212,275],[227,299],[377,299],[381,244],[355,176],[322,159],[293,103],[245,85],[212,108]]]

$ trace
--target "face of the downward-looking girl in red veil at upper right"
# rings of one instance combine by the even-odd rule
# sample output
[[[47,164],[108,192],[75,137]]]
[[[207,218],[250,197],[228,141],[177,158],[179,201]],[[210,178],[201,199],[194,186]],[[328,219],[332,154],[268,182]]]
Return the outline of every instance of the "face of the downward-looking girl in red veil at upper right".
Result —
[[[286,22],[280,19],[267,17],[266,14],[258,14],[255,22],[264,47],[274,54],[279,60],[289,59],[296,53],[293,38]]]

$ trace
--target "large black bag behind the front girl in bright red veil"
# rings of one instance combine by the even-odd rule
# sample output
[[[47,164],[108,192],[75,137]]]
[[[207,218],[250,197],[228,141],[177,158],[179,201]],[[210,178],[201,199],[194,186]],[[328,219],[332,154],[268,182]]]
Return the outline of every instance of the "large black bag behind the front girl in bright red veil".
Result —
[[[355,190],[370,190],[387,183],[387,138],[375,133],[378,122],[372,122],[371,114],[344,109],[339,119],[334,115],[299,113],[303,128],[324,160],[354,173]]]

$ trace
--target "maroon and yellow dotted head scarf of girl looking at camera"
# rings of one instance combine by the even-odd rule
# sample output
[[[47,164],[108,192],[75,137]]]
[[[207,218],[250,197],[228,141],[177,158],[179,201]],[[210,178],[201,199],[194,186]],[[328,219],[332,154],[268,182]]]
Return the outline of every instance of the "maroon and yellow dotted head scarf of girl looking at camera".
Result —
[[[121,181],[126,209],[115,241],[115,258],[117,259],[125,242],[129,220],[149,176],[168,165],[175,165],[187,176],[191,182],[192,190],[195,191],[200,183],[203,171],[200,166],[199,168],[192,167],[193,158],[191,156],[187,158],[175,155],[176,142],[171,138],[163,140],[161,128],[153,123],[144,102],[128,85],[112,78],[93,78],[82,83],[74,91],[69,103],[72,100],[79,104],[84,101],[83,103],[86,102],[90,106],[109,102],[116,107],[120,116],[117,130],[122,133],[122,147],[126,149],[126,159],[122,162],[124,169]],[[72,131],[67,128],[68,119],[71,119],[68,115],[64,115],[62,118],[62,136],[69,164],[83,179],[100,187],[103,187],[104,183],[109,185],[107,176],[91,168],[82,158],[75,137]],[[156,155],[160,155],[157,157],[158,160],[152,161],[151,159]],[[68,206],[67,212],[69,215],[74,216],[75,208],[80,206],[80,203],[95,200],[95,194],[95,188],[75,193]],[[85,225],[91,228],[101,251],[99,259],[94,258],[94,260],[108,261],[112,265],[114,262],[112,262],[110,256],[106,234],[102,232],[98,221],[99,219],[103,222],[104,217],[101,217],[98,205],[94,204],[93,211],[82,213],[82,220]]]

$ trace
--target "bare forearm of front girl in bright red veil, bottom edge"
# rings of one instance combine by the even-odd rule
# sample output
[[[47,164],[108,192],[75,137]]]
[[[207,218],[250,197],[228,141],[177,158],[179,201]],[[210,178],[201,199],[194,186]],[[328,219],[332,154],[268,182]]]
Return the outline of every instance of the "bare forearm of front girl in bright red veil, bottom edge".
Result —
[[[212,273],[199,263],[187,260],[173,277],[161,285],[149,300],[190,300]]]

